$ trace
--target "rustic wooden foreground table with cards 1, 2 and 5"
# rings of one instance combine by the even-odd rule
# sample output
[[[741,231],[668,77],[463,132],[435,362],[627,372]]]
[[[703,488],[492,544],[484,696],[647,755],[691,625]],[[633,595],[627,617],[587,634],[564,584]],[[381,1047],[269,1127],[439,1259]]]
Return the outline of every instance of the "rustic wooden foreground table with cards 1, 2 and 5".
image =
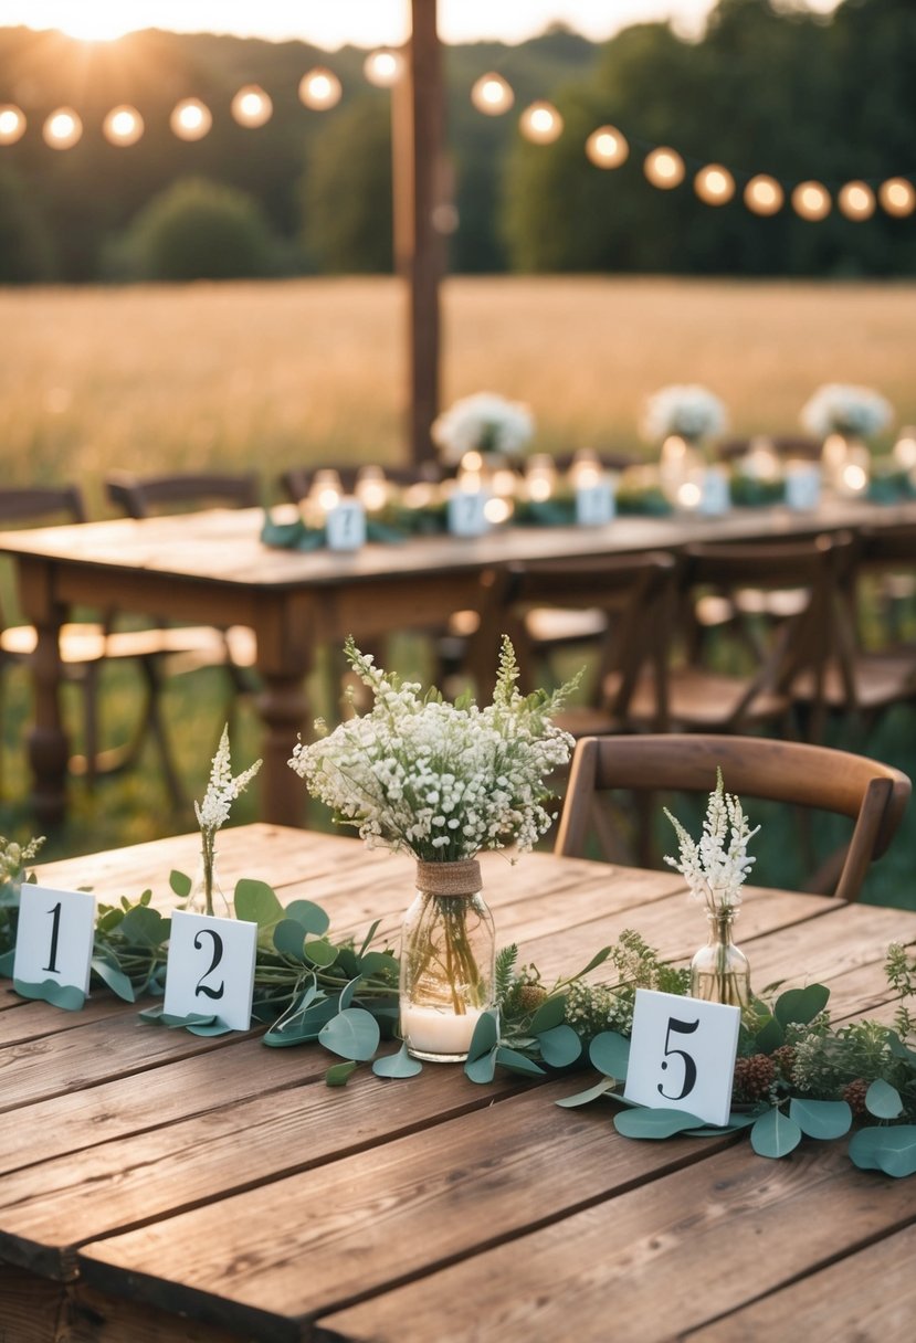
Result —
[[[99,897],[189,870],[185,835],[40,869]],[[224,877],[325,905],[334,933],[412,896],[406,858],[267,825],[222,834]],[[500,944],[549,979],[627,927],[686,958],[704,920],[673,872],[485,855]],[[888,943],[916,915],[752,890],[758,987],[819,980],[837,1019],[889,1021]],[[630,1142],[580,1077],[470,1082],[427,1065],[328,1088],[317,1045],[195,1038],[106,994],[79,1013],[0,994],[4,1343],[704,1343],[912,1339],[912,1180],[845,1143]]]

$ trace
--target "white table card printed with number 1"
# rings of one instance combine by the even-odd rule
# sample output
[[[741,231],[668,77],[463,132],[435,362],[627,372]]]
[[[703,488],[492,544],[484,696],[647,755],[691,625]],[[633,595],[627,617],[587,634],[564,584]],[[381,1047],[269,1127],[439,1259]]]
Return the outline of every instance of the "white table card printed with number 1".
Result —
[[[13,958],[16,988],[30,998],[44,998],[44,992],[28,990],[50,982],[60,990],[75,988],[86,998],[94,939],[95,896],[23,882]],[[55,1002],[55,997],[50,1001]],[[82,1003],[60,999],[60,1006]]]

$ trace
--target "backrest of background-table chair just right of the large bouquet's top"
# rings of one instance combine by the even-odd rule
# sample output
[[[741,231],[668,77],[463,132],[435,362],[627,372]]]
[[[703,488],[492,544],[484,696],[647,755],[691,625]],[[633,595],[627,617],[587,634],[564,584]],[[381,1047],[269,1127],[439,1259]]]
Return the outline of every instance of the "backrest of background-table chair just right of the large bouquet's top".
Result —
[[[479,626],[471,637],[466,666],[477,690],[493,688],[500,639],[512,639],[522,676],[535,676],[536,653],[525,614],[536,607],[598,608],[607,614],[595,685],[614,686],[603,705],[614,721],[625,721],[637,680],[654,674],[659,725],[665,721],[668,633],[674,602],[673,556],[645,555],[595,559],[537,560],[490,569],[481,577]],[[522,685],[522,689],[532,689]]]

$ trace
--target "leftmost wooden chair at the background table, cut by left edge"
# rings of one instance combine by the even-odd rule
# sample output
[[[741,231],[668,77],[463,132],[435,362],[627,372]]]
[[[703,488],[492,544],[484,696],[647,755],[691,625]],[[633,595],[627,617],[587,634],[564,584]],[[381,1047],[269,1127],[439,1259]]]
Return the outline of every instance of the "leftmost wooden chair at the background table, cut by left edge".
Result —
[[[4,526],[36,526],[87,521],[83,496],[77,486],[23,486],[0,489],[0,522]],[[188,639],[171,631],[117,630],[114,612],[101,620],[78,620],[64,624],[59,637],[59,654],[67,681],[82,688],[83,753],[70,760],[73,774],[85,775],[90,787],[101,775],[111,774],[136,761],[148,737],[156,744],[167,783],[176,787],[175,768],[158,705],[158,663],[163,658],[188,651]],[[199,645],[200,641],[197,641]],[[0,672],[13,663],[30,665],[35,657],[38,633],[31,624],[7,623],[0,614]],[[199,646],[193,646],[200,651]],[[136,663],[145,696],[130,740],[118,748],[101,748],[99,698],[101,674],[114,662]]]

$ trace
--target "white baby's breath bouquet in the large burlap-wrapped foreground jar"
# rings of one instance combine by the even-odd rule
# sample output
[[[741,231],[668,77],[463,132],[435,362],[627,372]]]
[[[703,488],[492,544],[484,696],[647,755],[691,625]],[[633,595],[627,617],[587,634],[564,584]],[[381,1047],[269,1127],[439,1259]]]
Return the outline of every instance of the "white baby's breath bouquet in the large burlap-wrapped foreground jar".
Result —
[[[352,638],[347,658],[372,690],[371,712],[309,745],[290,767],[309,791],[359,829],[369,846],[404,850],[424,862],[473,858],[484,850],[531,850],[552,822],[541,804],[547,776],[564,766],[572,737],[551,723],[575,681],[522,696],[518,666],[502,641],[493,704],[470,696],[450,704],[373,666]],[[317,724],[322,729],[322,724]]]

